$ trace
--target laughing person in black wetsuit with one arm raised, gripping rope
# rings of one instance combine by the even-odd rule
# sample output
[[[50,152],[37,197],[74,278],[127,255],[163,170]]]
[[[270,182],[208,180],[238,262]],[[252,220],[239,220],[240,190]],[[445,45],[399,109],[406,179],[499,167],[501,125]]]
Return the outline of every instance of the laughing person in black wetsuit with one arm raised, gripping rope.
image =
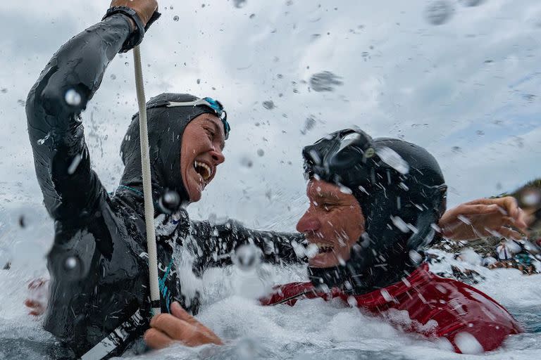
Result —
[[[100,23],[51,58],[26,105],[37,180],[55,220],[44,327],[83,359],[121,354],[148,328],[149,319],[138,115],[121,146],[125,170],[113,194],[90,167],[80,115],[116,53],[142,39],[147,21],[156,18],[157,3],[114,0],[111,6]],[[197,313],[199,296],[182,293],[173,262],[174,245],[182,245],[189,233],[185,245],[200,255],[195,271],[228,264],[230,253],[248,238],[268,262],[299,261],[290,245],[301,240],[299,234],[250,231],[232,221],[190,222],[179,206],[199,200],[224,161],[229,125],[218,101],[161,94],[147,103],[147,114],[155,216],[164,215],[156,230],[162,311],[179,301]]]

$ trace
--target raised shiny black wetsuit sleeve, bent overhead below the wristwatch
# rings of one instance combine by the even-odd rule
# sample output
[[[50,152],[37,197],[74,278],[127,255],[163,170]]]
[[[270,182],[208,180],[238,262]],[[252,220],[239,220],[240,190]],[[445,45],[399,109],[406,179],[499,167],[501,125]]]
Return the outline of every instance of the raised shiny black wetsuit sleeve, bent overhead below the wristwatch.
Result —
[[[92,210],[104,191],[90,169],[80,114],[129,34],[124,15],[113,15],[77,34],[54,54],[28,94],[28,134],[37,181],[54,219]]]

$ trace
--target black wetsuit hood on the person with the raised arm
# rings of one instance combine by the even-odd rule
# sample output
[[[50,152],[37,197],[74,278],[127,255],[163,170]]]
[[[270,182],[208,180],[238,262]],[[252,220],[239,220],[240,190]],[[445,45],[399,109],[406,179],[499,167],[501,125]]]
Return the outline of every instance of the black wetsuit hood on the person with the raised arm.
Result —
[[[207,106],[182,106],[168,108],[169,102],[189,102],[198,100],[190,94],[163,93],[147,102],[147,121],[149,131],[150,166],[154,199],[167,191],[180,195],[180,202],[189,201],[180,173],[180,149],[182,135],[189,122],[204,114],[215,114]],[[139,139],[139,113],[133,115],[132,122],[120,146],[120,156],[125,165],[120,185],[142,189],[141,145]]]

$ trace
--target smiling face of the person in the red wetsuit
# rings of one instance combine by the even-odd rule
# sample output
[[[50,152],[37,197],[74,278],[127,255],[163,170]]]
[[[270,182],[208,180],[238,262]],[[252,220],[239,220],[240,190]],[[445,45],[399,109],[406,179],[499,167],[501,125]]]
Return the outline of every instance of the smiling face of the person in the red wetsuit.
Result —
[[[364,217],[354,195],[325,181],[311,179],[306,188],[310,207],[297,223],[318,254],[309,260],[313,267],[337,266],[349,259],[349,250],[364,232]]]

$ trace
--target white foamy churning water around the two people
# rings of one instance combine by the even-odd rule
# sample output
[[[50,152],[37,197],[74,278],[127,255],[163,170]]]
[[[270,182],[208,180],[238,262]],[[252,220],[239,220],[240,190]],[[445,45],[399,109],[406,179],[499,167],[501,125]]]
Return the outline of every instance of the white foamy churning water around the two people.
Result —
[[[254,300],[255,290],[265,289],[269,284],[306,281],[304,266],[262,265],[266,271],[252,271],[249,275],[230,266],[209,269],[200,279],[189,276],[192,274],[191,253],[176,254],[180,271],[187,274],[182,288],[188,290],[191,283],[192,293],[200,291],[203,294],[197,319],[225,340],[225,345],[197,348],[175,345],[143,357],[125,354],[123,359],[466,359],[464,355],[452,352],[448,342],[427,340],[392,326],[389,320],[393,319],[398,323],[401,322],[397,320],[402,319],[404,328],[412,323],[404,311],[368,315],[355,308],[353,297],[347,300],[351,307],[341,301],[321,299],[301,300],[294,307],[262,307]],[[449,260],[444,259],[436,265],[449,266],[447,261],[456,262],[449,255]],[[510,269],[482,271],[487,280],[476,286],[504,306],[511,307],[511,314],[528,321],[527,326],[533,328],[540,320],[535,317],[535,311],[541,310],[537,292],[541,276],[522,276]],[[502,279],[506,279],[506,286],[502,286]],[[43,359],[44,354],[49,354],[48,348],[60,349],[39,322],[25,314],[21,304],[28,293],[20,276],[13,271],[0,270],[0,286],[6,289],[1,297],[6,306],[0,308],[0,358]],[[392,298],[390,294],[383,296]],[[502,349],[484,354],[483,359],[536,359],[541,349],[538,345],[540,333],[531,331],[511,336]],[[14,344],[25,352],[14,352]],[[467,333],[461,335],[457,345],[466,354],[478,352],[478,341]]]

